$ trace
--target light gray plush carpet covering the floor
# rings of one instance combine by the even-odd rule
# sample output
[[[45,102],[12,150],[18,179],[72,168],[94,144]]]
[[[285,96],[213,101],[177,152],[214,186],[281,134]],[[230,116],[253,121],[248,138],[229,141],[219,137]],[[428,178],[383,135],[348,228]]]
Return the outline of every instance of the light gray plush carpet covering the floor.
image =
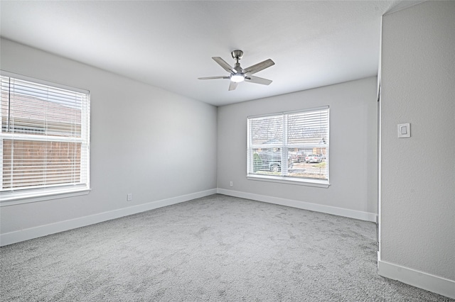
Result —
[[[453,301],[378,276],[374,223],[223,195],[0,250],[1,301]]]

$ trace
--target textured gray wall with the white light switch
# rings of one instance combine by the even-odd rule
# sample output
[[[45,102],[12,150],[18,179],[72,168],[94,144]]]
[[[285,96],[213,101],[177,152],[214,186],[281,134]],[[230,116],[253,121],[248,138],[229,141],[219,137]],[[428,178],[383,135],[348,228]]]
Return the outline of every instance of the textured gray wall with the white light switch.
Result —
[[[384,16],[381,78],[380,258],[455,280],[454,1]]]

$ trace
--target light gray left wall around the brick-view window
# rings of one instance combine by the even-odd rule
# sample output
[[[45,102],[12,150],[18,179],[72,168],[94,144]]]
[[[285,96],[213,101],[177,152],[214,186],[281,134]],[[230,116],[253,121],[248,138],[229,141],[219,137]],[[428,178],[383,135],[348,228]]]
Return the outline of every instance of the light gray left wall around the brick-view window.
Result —
[[[92,126],[90,194],[3,206],[2,234],[216,189],[215,106],[3,39],[1,69],[90,90]]]

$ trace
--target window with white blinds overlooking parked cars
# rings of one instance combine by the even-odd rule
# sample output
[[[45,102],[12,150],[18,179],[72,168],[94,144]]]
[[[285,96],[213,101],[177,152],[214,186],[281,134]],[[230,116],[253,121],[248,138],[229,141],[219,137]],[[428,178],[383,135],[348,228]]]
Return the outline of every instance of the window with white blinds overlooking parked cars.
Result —
[[[328,186],[329,109],[247,119],[247,177]]]

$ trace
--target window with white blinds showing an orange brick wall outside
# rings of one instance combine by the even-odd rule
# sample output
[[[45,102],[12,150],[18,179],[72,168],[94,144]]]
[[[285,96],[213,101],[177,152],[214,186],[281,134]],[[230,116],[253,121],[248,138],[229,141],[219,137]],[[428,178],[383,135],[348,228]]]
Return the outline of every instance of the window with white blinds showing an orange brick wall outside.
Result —
[[[1,204],[90,189],[90,95],[1,72]]]

